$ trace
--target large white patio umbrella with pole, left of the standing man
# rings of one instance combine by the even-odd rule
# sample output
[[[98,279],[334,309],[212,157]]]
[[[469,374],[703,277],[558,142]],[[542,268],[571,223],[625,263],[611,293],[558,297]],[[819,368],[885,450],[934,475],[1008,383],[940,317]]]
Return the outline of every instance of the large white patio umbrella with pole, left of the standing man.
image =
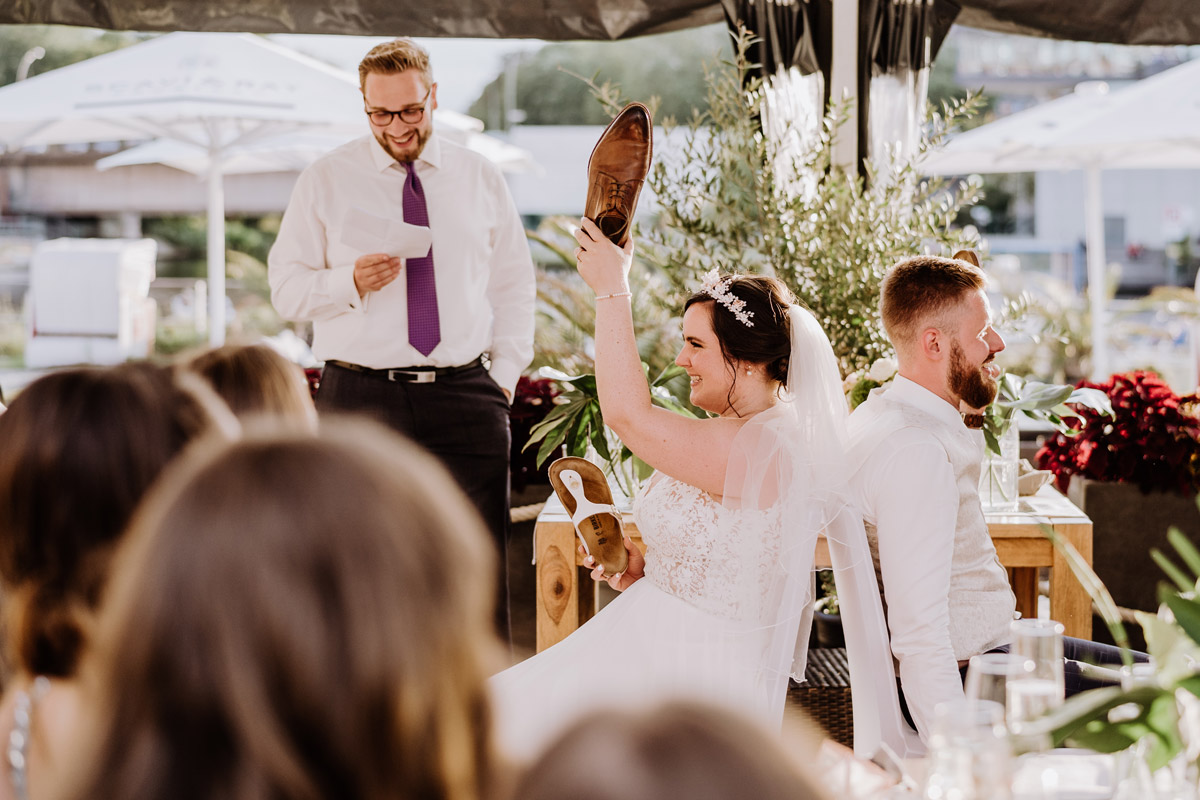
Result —
[[[230,152],[288,131],[361,131],[362,116],[355,76],[248,34],[168,34],[0,88],[5,149],[157,138],[206,154],[212,344],[226,329]]]

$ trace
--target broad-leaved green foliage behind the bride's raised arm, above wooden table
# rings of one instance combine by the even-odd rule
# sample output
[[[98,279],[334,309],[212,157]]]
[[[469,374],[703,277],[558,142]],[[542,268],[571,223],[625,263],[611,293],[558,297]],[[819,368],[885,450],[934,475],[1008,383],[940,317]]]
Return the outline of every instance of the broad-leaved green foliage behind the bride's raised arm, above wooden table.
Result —
[[[642,368],[649,377],[649,367],[642,363]],[[568,456],[581,458],[587,456],[589,450],[594,450],[604,462],[605,473],[617,482],[625,497],[632,498],[637,492],[637,485],[649,477],[653,470],[605,427],[596,377],[576,375],[572,378],[551,369],[542,369],[541,374],[569,385],[571,390],[560,395],[558,397],[559,404],[554,407],[554,410],[533,427],[524,449],[541,443],[538,447],[539,465],[560,446],[565,447]],[[670,365],[654,380],[649,381],[649,385],[650,401],[655,405],[685,416],[697,416],[694,411],[695,407],[680,399],[678,395],[680,385],[684,387],[688,385],[683,367]],[[683,391],[688,390],[683,389]]]

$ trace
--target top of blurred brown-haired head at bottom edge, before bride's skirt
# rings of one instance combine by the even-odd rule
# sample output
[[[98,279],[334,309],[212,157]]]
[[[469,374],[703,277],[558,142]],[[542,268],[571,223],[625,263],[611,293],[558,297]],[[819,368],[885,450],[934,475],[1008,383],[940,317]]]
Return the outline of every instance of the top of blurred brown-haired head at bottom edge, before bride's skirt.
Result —
[[[816,740],[804,742],[816,754]],[[730,711],[668,703],[575,724],[518,780],[514,800],[827,800],[766,729]]]

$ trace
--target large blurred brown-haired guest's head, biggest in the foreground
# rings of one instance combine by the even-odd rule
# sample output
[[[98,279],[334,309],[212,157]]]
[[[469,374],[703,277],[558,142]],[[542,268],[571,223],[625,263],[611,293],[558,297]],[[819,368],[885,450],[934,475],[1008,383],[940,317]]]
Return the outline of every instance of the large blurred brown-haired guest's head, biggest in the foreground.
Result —
[[[382,427],[198,450],[116,558],[62,796],[480,798],[493,558]]]

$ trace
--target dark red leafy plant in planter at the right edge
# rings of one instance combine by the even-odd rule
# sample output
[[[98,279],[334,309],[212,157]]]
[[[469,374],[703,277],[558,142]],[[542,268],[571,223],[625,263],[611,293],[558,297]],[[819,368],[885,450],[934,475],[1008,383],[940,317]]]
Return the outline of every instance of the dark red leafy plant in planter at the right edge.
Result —
[[[1153,610],[1158,571],[1146,554],[1175,525],[1200,541],[1200,397],[1180,397],[1152,372],[1080,383],[1106,395],[1111,415],[1086,405],[1038,451],[1042,469],[1092,519],[1097,575],[1121,606]],[[1140,642],[1135,642],[1139,646]]]

